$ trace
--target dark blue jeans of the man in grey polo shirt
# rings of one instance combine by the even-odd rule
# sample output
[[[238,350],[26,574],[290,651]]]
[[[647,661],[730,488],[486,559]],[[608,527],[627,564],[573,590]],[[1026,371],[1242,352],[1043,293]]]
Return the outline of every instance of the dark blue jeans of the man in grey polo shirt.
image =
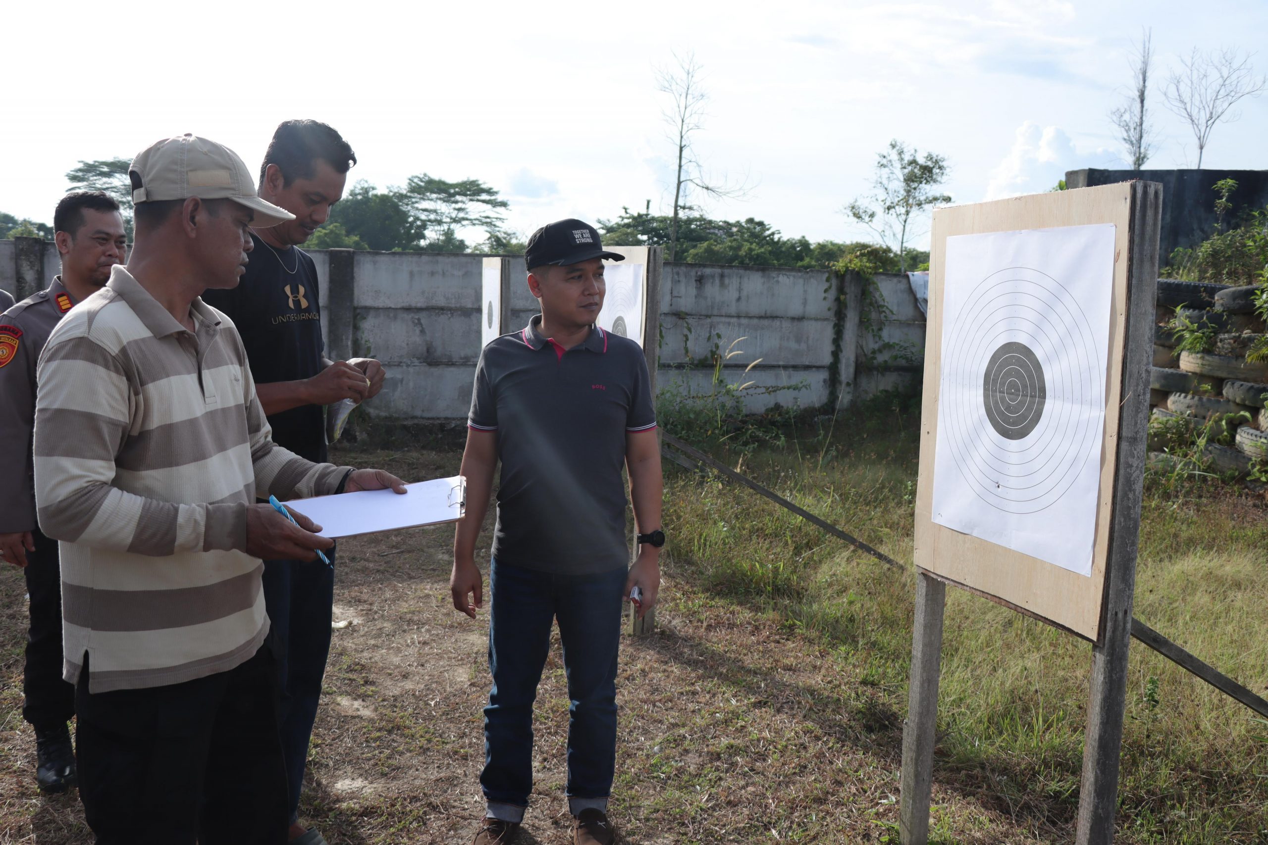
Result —
[[[571,798],[606,798],[616,768],[616,654],[626,570],[553,575],[496,560],[489,571],[484,770],[491,802],[527,806],[533,792],[533,702],[559,621],[568,678]]]

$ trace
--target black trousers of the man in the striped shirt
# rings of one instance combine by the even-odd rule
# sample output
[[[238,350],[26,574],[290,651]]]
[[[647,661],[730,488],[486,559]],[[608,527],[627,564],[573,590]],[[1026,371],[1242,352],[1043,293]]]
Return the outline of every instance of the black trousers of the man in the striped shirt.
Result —
[[[287,777],[266,647],[166,687],[75,690],[80,799],[98,845],[283,845]]]

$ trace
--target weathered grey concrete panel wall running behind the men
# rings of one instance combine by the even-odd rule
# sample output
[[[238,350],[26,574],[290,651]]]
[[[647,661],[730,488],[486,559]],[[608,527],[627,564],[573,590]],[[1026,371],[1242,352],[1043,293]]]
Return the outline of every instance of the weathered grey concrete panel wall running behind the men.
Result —
[[[331,357],[373,356],[388,380],[368,405],[404,418],[467,414],[481,351],[479,255],[311,252],[321,283],[322,331]],[[38,257],[38,261],[37,261]],[[38,265],[38,270],[37,270]],[[0,288],[27,296],[58,272],[57,250],[37,238],[0,241]],[[749,410],[822,405],[828,400],[836,280],[823,270],[666,265],[661,285],[661,390],[714,390],[714,350],[721,381],[753,381]],[[883,275],[864,290],[847,280],[841,356],[841,402],[912,385],[924,343],[924,321],[907,276]],[[20,295],[19,295],[20,294]],[[512,326],[536,313],[519,272],[511,285]],[[761,361],[747,374],[744,369]],[[742,381],[741,381],[742,380]],[[798,389],[770,391],[799,385]]]

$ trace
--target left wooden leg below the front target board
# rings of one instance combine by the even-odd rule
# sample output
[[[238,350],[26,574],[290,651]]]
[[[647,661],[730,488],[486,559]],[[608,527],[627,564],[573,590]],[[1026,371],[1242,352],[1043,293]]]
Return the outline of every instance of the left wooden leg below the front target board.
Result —
[[[903,845],[929,839],[933,745],[937,740],[938,678],[942,673],[942,613],[946,584],[928,573],[915,575],[915,623],[912,632],[912,678],[903,723],[898,835]]]

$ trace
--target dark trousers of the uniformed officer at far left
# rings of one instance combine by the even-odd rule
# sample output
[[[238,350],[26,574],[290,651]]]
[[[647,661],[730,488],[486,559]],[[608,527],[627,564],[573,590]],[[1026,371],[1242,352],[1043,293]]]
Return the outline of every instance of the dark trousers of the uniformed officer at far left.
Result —
[[[30,628],[22,674],[22,717],[37,728],[65,725],[75,716],[75,687],[62,680],[62,576],[57,541],[37,528],[36,551],[27,552]]]

